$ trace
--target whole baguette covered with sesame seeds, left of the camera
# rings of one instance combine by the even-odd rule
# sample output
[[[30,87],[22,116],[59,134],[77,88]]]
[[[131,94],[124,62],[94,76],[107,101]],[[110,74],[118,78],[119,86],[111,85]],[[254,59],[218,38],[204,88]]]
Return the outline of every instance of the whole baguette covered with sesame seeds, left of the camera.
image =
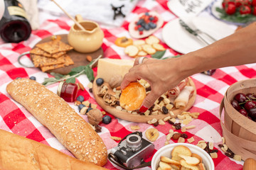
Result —
[[[6,91],[76,158],[100,166],[107,163],[107,148],[100,136],[63,98],[31,79],[15,79]]]

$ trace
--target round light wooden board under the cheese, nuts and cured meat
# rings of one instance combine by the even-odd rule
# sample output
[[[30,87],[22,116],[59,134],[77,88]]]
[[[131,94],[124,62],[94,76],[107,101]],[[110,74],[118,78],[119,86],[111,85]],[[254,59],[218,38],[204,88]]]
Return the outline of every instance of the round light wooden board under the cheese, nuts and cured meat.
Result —
[[[147,123],[149,120],[152,120],[153,118],[156,118],[157,120],[159,120],[159,119],[164,119],[168,116],[164,114],[148,115],[148,116],[139,115],[139,114],[134,115],[132,113],[128,113],[127,111],[119,111],[112,106],[106,105],[105,102],[103,101],[103,98],[100,96],[97,96],[97,91],[99,91],[100,86],[97,86],[96,79],[97,77],[95,78],[95,81],[92,84],[92,93],[95,96],[95,100],[97,101],[98,105],[100,105],[100,107],[102,107],[105,111],[114,115],[115,117],[130,121],[130,122],[134,122],[134,123]],[[177,115],[182,113],[183,111],[188,111],[193,106],[193,103],[196,101],[196,86],[193,83],[193,80],[191,78],[189,78],[188,84],[190,86],[194,86],[195,90],[193,91],[193,95],[191,96],[191,98],[189,98],[188,105],[186,106],[186,108],[172,110],[174,112],[174,116],[172,116],[173,118],[176,118]]]

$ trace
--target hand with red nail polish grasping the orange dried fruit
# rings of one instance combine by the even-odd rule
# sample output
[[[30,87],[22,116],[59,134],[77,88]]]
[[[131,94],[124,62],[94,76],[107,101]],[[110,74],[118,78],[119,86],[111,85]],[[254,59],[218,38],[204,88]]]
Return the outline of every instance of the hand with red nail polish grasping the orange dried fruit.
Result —
[[[145,112],[162,94],[176,86],[184,77],[178,74],[178,60],[170,58],[167,60],[155,60],[144,57],[142,64],[139,64],[138,57],[134,62],[134,67],[129,69],[129,73],[124,75],[121,89],[124,89],[130,82],[139,79],[146,80],[150,86],[150,93],[144,98],[140,112]],[[178,75],[178,76],[177,76]]]

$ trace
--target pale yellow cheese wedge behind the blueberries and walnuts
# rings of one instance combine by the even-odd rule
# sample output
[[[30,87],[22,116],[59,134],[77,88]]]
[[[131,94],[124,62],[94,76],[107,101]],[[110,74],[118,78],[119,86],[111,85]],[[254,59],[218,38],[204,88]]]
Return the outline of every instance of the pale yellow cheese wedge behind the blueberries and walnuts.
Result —
[[[100,59],[97,64],[97,77],[108,83],[115,75],[124,77],[133,64],[134,60]]]

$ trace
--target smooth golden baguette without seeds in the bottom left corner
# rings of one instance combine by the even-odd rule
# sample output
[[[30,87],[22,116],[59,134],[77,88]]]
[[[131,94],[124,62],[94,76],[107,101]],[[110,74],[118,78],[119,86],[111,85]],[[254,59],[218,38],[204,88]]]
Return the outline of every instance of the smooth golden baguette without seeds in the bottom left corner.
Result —
[[[4,170],[104,170],[26,137],[0,130],[0,169]]]

